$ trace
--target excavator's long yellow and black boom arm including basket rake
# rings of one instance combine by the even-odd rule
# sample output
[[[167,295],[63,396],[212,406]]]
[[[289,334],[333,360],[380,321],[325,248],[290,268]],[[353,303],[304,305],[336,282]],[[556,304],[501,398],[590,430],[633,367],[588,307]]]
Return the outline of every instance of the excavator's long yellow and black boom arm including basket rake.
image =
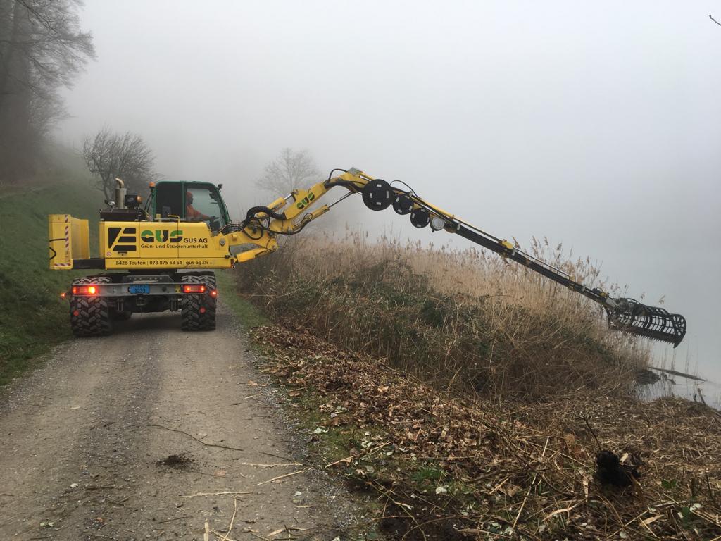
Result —
[[[335,171],[342,171],[342,174],[333,177]],[[585,286],[561,269],[518,250],[508,240],[494,237],[454,214],[428,203],[407,185],[405,187],[408,189],[404,190],[356,169],[333,170],[327,180],[318,182],[307,190],[295,190],[268,206],[250,208],[240,224],[226,226],[222,233],[229,246],[244,248],[234,256],[236,262],[243,263],[259,255],[270,254],[278,248],[275,237],[301,232],[307,224],[340,202],[339,200],[309,211],[311,206],[336,187],[348,190],[341,200],[353,193],[361,193],[363,203],[371,210],[381,211],[392,206],[397,214],[410,214],[411,223],[415,227],[430,225],[434,231],[443,229],[448,233],[458,234],[588,297],[606,310],[611,328],[672,343],[674,348],[686,335],[686,320],[682,315],[671,314],[663,308],[646,306],[634,299],[611,298],[605,291]]]

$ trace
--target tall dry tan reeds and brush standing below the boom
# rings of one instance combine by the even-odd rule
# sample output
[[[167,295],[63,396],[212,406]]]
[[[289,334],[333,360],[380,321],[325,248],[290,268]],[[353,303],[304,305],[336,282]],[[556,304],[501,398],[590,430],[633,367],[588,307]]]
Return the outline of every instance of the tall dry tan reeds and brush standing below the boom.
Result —
[[[244,294],[440,387],[499,398],[627,392],[648,364],[647,344],[611,333],[598,305],[497,255],[359,234],[288,240],[242,265]],[[528,251],[603,285],[598,265],[561,245],[534,239]]]

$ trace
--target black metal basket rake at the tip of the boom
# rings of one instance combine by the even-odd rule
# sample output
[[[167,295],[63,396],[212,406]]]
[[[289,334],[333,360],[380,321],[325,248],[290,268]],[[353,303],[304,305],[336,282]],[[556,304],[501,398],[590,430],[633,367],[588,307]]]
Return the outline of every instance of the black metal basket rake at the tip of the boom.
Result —
[[[635,299],[612,299],[609,304],[605,308],[611,328],[672,343],[674,348],[684,340],[686,318],[680,314]]]

